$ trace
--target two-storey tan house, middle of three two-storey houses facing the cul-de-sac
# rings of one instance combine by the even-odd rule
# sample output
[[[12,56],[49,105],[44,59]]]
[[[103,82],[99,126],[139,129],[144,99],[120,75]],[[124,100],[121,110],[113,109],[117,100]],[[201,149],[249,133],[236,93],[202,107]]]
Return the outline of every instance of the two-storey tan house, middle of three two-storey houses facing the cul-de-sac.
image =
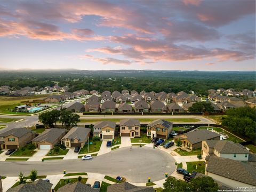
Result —
[[[140,121],[138,119],[122,119],[119,125],[121,137],[140,137]]]

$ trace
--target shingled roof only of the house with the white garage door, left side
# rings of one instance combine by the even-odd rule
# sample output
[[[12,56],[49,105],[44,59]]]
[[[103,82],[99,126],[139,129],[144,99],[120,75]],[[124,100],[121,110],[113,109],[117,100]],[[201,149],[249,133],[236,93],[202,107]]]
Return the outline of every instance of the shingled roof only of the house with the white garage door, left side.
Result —
[[[59,138],[61,134],[65,133],[65,131],[66,131],[65,129],[58,129],[58,128],[46,129],[43,133],[39,134],[32,141],[35,141],[35,142],[47,141],[52,143],[55,140],[57,140],[57,138]]]

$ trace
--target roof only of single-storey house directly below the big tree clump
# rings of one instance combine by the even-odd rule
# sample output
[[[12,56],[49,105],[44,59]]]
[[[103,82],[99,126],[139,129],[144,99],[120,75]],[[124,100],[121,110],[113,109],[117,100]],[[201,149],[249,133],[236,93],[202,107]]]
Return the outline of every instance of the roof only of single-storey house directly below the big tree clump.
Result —
[[[90,128],[75,126],[72,127],[72,129],[70,129],[62,139],[70,139],[71,141],[78,139],[79,142],[85,142],[88,139],[87,135],[90,133],[90,131]]]

